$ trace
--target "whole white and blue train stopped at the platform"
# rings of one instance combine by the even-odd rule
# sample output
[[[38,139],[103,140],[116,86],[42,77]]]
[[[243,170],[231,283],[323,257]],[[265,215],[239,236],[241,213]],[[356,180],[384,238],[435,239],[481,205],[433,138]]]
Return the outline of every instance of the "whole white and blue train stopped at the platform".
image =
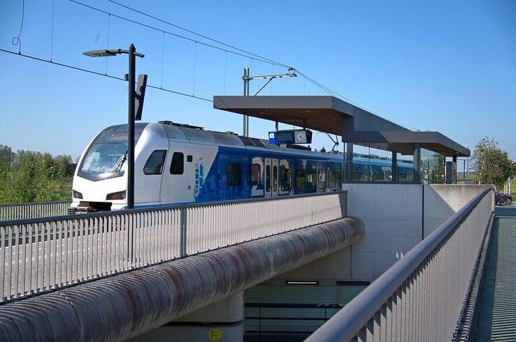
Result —
[[[341,154],[306,147],[278,147],[231,132],[159,121],[135,126],[135,207],[217,202],[341,187]],[[73,177],[73,211],[127,207],[127,124],[110,126],[89,143]],[[354,158],[354,178],[389,180],[391,161]],[[399,179],[413,165],[398,162]],[[371,179],[372,177],[372,179]]]

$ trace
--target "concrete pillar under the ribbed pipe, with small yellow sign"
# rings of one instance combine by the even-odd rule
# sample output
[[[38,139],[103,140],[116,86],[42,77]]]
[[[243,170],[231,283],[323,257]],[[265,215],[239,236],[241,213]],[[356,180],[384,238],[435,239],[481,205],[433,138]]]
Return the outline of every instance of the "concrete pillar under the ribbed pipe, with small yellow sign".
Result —
[[[243,308],[238,292],[131,341],[243,341]]]

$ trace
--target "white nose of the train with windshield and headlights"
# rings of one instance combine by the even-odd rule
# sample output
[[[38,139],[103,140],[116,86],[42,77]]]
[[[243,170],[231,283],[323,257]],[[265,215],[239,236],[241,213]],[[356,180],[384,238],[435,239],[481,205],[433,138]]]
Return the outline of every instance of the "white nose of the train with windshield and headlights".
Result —
[[[148,124],[136,123],[135,144]],[[127,207],[127,124],[110,126],[85,149],[73,177],[69,214]],[[136,156],[141,152],[135,148]]]

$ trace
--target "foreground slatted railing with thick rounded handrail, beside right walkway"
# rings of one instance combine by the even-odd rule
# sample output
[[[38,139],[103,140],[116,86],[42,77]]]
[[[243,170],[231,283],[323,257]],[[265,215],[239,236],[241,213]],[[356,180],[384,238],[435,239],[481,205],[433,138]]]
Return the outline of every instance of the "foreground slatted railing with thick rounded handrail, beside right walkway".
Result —
[[[475,195],[306,341],[450,341],[492,201]]]

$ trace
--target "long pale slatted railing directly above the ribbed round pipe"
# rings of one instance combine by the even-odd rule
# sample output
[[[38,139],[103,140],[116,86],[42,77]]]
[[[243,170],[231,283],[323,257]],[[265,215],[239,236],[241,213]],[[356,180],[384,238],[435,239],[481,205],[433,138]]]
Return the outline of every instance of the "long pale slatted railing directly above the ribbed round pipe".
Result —
[[[0,222],[0,303],[345,216],[347,193]]]

